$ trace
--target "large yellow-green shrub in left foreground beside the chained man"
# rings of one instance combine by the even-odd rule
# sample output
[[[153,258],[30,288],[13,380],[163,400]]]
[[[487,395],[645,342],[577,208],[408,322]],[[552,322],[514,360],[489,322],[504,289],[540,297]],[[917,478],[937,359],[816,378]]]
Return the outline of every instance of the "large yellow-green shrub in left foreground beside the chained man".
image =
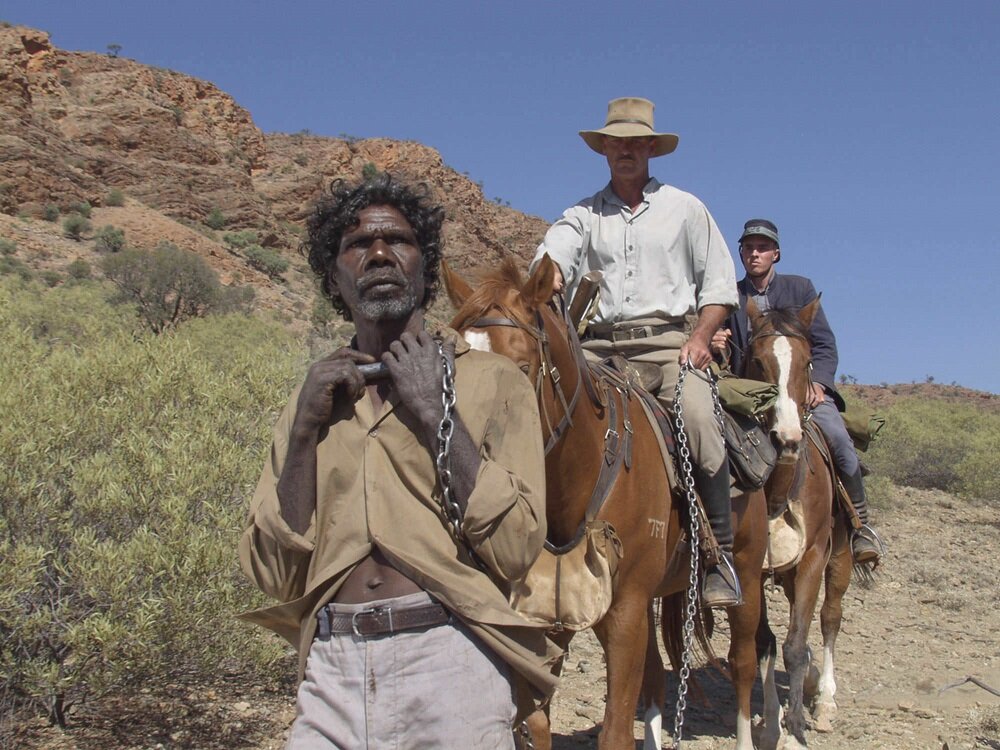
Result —
[[[0,389],[0,705],[57,723],[108,690],[259,676],[285,651],[234,617],[262,603],[235,549],[297,348],[245,317],[137,336],[96,292],[0,281],[19,373]],[[26,309],[71,326],[27,328]]]

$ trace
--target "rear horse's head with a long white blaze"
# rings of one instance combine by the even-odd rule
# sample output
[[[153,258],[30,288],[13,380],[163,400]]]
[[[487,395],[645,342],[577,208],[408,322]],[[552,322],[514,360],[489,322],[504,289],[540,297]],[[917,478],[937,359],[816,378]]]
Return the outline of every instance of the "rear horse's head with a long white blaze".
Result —
[[[782,455],[797,457],[802,443],[802,418],[812,382],[812,325],[819,298],[801,310],[760,312],[752,299],[747,301],[750,320],[750,346],[747,377],[776,383],[778,400],[771,414],[771,432],[778,440]]]

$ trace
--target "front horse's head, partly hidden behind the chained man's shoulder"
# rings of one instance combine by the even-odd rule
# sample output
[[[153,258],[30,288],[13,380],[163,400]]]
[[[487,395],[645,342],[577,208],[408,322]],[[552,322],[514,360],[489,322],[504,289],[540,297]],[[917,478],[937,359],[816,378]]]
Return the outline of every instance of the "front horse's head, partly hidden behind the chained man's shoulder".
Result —
[[[442,263],[445,289],[458,310],[452,328],[473,349],[496,352],[513,360],[537,384],[543,359],[548,356],[545,328],[559,322],[549,306],[555,269],[555,263],[545,256],[524,280],[514,260],[507,258],[473,289]],[[546,367],[550,365],[546,363]]]

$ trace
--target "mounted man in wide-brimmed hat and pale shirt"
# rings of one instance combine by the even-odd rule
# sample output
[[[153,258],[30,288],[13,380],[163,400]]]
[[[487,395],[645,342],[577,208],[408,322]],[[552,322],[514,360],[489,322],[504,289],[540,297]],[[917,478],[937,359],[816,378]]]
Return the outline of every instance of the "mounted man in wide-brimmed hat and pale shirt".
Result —
[[[678,141],[656,132],[651,101],[613,99],[604,127],[580,137],[607,158],[611,182],[549,228],[532,267],[548,254],[559,266],[557,286],[569,295],[589,271],[604,274],[584,349],[594,359],[621,354],[658,365],[657,397],[668,408],[681,364],[695,368],[684,382],[684,423],[695,486],[722,552],[706,572],[702,603],[734,606],[742,595],[732,559],[729,464],[703,370],[712,361],[712,334],[738,302],[736,270],[705,205],[650,178],[649,160],[669,154]]]

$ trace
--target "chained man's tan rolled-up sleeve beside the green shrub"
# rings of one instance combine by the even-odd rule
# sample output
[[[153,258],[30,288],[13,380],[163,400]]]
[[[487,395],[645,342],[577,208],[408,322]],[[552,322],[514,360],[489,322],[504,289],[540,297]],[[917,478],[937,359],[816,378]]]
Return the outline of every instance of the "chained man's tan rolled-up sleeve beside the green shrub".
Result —
[[[294,398],[291,403],[295,403]],[[288,453],[292,411],[286,408],[274,426],[270,458],[257,483],[239,545],[244,573],[261,591],[282,602],[305,593],[316,544],[315,514],[309,528],[298,534],[282,518],[278,501],[278,477]]]

